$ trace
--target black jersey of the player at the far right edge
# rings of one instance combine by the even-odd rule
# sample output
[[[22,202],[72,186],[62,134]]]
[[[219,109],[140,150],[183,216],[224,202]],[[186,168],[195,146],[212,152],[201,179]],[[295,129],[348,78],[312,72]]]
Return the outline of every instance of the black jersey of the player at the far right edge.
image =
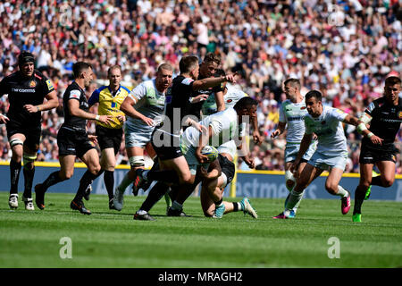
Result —
[[[369,130],[384,141],[382,145],[373,145],[370,139],[364,137],[362,143],[382,150],[393,147],[402,122],[402,98],[398,98],[398,105],[389,105],[385,97],[380,97],[368,105],[364,112],[373,117]]]

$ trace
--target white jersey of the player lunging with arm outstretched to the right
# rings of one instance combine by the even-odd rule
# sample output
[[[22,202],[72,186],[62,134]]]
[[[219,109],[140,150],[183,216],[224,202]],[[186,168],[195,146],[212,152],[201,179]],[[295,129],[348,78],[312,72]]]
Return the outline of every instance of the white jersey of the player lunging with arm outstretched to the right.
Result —
[[[305,116],[306,134],[317,135],[318,145],[316,152],[325,155],[337,155],[348,152],[347,139],[342,122],[348,114],[338,108],[322,106],[322,114],[314,118],[310,114]]]

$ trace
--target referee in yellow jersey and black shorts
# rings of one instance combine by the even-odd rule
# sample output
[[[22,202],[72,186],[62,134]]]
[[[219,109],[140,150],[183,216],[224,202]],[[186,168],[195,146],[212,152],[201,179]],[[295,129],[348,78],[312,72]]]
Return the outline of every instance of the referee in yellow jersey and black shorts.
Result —
[[[130,94],[130,89],[121,86],[121,66],[113,65],[107,71],[109,86],[97,88],[88,99],[88,105],[99,103],[98,114],[113,116],[110,124],[96,122],[96,136],[101,149],[101,167],[104,173],[105,187],[109,196],[109,209],[116,209],[113,205],[114,166],[116,155],[120,150],[122,125],[126,120],[120,110],[121,103]],[[89,195],[89,192],[88,194]],[[88,198],[87,196],[84,198]]]

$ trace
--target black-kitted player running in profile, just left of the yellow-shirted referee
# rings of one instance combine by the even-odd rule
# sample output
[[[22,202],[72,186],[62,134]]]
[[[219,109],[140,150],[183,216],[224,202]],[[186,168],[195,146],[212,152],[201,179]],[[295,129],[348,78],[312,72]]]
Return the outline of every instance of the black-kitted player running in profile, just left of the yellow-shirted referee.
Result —
[[[91,214],[84,206],[82,198],[91,181],[98,176],[101,167],[95,144],[96,136],[87,133],[87,120],[96,120],[107,124],[112,121],[110,115],[88,113],[89,105],[84,88],[88,88],[93,71],[89,63],[77,62],[72,65],[74,81],[67,87],[63,95],[64,122],[57,133],[57,146],[59,147],[59,161],[61,168],[52,172],[45,181],[35,186],[35,202],[39,209],[45,208],[46,190],[65,180],[69,180],[74,173],[76,157],[88,166],[88,170],[80,179],[80,186],[70,207],[80,211],[81,214]],[[92,141],[92,142],[91,142]]]

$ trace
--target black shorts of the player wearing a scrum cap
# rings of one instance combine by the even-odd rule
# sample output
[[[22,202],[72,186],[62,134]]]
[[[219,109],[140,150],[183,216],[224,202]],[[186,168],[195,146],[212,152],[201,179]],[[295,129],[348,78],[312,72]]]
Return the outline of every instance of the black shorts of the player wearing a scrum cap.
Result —
[[[8,139],[15,134],[23,134],[26,138],[24,141],[24,146],[29,147],[31,150],[38,150],[41,133],[40,124],[32,126],[27,122],[22,124],[20,122],[9,121],[5,125],[5,128],[7,130]]]

